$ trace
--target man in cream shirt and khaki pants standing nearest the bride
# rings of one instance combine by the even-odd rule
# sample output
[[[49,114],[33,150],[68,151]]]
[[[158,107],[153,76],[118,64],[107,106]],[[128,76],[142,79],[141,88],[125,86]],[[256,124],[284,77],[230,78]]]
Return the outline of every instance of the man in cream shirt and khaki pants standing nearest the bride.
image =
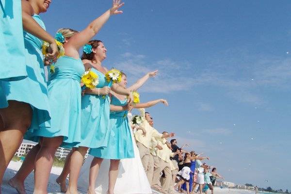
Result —
[[[146,120],[141,124],[141,127],[146,130],[146,134],[144,135],[142,131],[138,130],[135,132],[135,140],[136,145],[140,152],[140,157],[146,171],[146,177],[148,179],[149,184],[151,185],[152,181],[152,162],[151,162],[151,155],[150,155],[150,147],[151,147],[151,140],[152,137],[154,138],[168,138],[173,137],[174,133],[170,133],[167,135],[163,135],[159,133],[157,130],[154,130],[150,125],[149,122],[152,122],[149,113],[145,112],[145,109],[139,109],[141,112],[141,116],[144,117]]]

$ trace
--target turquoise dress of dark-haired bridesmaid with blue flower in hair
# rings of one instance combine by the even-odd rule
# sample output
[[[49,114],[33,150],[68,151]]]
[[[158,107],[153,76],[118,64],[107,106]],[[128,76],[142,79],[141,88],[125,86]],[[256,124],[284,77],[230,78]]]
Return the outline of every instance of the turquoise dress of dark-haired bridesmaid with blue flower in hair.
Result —
[[[92,68],[98,75],[97,88],[107,86],[105,75]],[[102,95],[85,94],[81,98],[81,143],[78,146],[97,148],[106,147],[109,140],[110,98]]]

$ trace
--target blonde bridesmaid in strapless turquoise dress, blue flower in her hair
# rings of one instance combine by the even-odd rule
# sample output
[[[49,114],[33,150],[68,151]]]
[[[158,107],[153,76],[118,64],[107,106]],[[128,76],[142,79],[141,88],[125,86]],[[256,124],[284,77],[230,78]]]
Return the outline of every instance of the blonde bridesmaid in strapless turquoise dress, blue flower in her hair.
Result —
[[[65,48],[71,38],[73,40],[74,35],[78,33],[64,28],[58,32],[63,36]],[[65,54],[67,53],[65,51]],[[56,149],[63,141],[65,147],[80,143],[80,81],[83,73],[81,59],[65,55],[55,63],[55,72],[50,75],[48,82],[51,120],[46,122],[41,130],[30,130],[26,133],[25,139],[39,144],[30,150],[16,175],[9,180],[9,184],[16,188],[18,193],[25,194],[24,180],[33,169],[35,169],[35,191],[47,191]]]

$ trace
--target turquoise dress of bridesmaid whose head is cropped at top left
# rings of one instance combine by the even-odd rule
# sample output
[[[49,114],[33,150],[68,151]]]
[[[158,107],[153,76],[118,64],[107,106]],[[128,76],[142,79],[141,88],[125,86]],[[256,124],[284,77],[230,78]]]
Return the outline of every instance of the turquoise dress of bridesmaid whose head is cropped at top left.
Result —
[[[13,1],[14,2],[14,1]],[[45,25],[38,15],[33,19],[45,29]],[[42,54],[43,41],[29,32],[23,32],[24,52],[27,78],[19,81],[0,81],[7,100],[26,102],[32,107],[32,129],[39,129],[49,116],[48,87],[45,81],[44,62]],[[0,108],[2,104],[0,104]]]

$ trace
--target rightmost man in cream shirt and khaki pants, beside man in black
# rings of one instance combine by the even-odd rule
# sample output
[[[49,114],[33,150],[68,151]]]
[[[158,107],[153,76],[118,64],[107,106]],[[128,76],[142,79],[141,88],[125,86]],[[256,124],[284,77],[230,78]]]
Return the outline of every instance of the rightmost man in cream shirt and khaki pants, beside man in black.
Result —
[[[169,133],[164,131],[162,132],[163,135],[168,136]],[[167,138],[167,137],[166,137]],[[172,182],[172,167],[170,157],[178,153],[172,152],[172,150],[166,145],[166,138],[156,139],[158,141],[158,145],[162,146],[162,150],[157,150],[157,156],[159,161],[157,162],[160,168],[154,169],[154,177],[152,180],[152,186],[154,188],[159,188],[160,185],[160,173],[163,171],[165,174],[164,181],[162,183],[162,189],[160,190],[162,193],[167,193],[170,189],[171,182]]]

